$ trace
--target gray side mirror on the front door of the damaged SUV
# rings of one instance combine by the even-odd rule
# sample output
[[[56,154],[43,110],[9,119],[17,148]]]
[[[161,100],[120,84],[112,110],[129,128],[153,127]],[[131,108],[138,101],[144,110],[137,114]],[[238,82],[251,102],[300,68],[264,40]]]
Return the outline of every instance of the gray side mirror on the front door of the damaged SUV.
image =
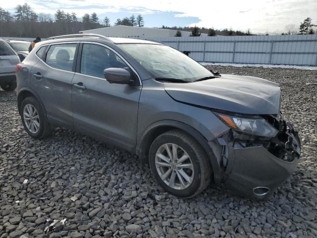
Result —
[[[130,84],[131,74],[124,68],[106,68],[104,76],[109,83]]]

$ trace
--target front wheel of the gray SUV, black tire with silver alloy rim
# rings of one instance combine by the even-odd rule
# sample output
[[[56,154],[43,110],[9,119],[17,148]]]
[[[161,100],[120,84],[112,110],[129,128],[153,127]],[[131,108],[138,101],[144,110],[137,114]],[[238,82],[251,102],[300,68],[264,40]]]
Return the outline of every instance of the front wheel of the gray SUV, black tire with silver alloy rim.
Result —
[[[169,148],[171,156],[168,156],[166,147]],[[173,153],[174,150],[177,152]],[[173,157],[174,154],[177,156]],[[186,159],[187,156],[188,159]],[[178,158],[178,162],[174,161],[174,163],[166,166],[166,157],[167,159],[170,157]],[[170,130],[159,135],[151,145],[149,162],[154,178],[159,182],[159,185],[167,192],[178,197],[196,196],[211,181],[211,163],[204,149],[194,138],[181,130]],[[180,164],[180,162],[182,163]],[[164,163],[164,166],[161,163]],[[170,169],[172,170],[172,172],[169,172],[170,176],[163,180]],[[187,175],[185,177],[182,176],[184,172]],[[181,180],[186,184],[182,183]]]

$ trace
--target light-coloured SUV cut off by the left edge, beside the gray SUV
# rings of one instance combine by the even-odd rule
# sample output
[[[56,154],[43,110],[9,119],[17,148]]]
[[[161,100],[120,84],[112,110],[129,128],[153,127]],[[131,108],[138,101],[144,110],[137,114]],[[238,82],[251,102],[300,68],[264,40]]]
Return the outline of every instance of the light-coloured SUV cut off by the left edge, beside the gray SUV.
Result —
[[[15,65],[20,62],[18,55],[0,39],[0,86],[5,91],[16,88]]]

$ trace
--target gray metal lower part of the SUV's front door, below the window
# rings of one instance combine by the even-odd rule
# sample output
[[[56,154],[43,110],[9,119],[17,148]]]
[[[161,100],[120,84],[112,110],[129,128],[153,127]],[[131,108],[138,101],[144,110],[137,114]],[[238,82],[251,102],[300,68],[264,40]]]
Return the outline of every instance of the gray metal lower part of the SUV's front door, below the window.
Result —
[[[72,84],[78,83],[83,83],[86,90],[72,86],[74,129],[133,150],[142,87],[110,84],[76,73]]]

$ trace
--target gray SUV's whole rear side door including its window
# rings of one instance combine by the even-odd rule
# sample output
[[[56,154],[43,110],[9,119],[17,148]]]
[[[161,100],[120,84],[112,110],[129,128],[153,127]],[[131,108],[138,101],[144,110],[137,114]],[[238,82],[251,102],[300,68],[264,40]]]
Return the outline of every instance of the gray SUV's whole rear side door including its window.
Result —
[[[71,80],[78,46],[76,42],[52,44],[31,69],[31,85],[40,96],[49,121],[70,129],[73,128]]]

